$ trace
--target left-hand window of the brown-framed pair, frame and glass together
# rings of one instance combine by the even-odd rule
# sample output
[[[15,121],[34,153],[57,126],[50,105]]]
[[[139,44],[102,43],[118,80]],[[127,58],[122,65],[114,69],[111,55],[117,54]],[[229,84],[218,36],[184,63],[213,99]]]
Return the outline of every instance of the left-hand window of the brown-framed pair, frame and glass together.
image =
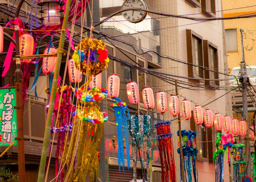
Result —
[[[202,37],[192,30],[187,33],[187,60],[188,63],[203,66],[203,44]],[[188,64],[188,76],[203,78],[203,69]]]

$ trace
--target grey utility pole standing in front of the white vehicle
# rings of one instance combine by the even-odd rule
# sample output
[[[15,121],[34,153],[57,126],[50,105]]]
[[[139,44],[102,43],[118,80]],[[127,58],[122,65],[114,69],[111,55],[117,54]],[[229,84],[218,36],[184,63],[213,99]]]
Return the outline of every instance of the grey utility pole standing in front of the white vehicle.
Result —
[[[241,80],[242,83],[242,100],[243,100],[243,112],[242,118],[246,121],[246,126],[249,126],[248,123],[248,104],[247,104],[247,74],[246,74],[246,64],[244,59],[244,42],[243,42],[243,30],[240,29],[241,32],[241,43],[242,43],[242,62],[241,66]],[[246,160],[246,175],[252,178],[252,166],[251,166],[251,149],[250,149],[250,141],[248,138],[248,134],[245,136],[245,160]]]

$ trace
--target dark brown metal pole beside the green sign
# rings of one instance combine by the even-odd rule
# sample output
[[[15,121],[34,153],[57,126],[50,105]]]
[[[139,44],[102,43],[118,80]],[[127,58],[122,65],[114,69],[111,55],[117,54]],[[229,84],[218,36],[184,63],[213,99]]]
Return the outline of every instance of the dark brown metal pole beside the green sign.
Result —
[[[19,17],[20,8],[24,0],[20,0],[15,12],[15,18]],[[16,56],[19,55],[19,25],[15,25]],[[15,70],[15,90],[16,90],[16,113],[17,113],[17,138],[18,140],[18,174],[19,181],[25,182],[25,150],[23,132],[23,102],[22,102],[22,71],[20,69],[20,58],[16,57]]]

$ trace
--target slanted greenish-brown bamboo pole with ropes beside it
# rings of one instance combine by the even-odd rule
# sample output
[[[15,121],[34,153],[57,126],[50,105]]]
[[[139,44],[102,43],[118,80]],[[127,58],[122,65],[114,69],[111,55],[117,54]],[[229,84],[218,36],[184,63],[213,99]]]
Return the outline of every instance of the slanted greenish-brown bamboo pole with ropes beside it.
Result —
[[[59,50],[63,50],[63,47],[64,47],[66,28],[68,24],[68,15],[70,11],[70,4],[71,4],[71,0],[67,0],[63,24],[61,28],[61,34],[60,34],[60,43],[58,48]],[[38,171],[38,178],[37,178],[38,182],[44,181],[44,171],[45,171],[46,158],[48,154],[48,144],[49,144],[49,138],[50,138],[50,125],[52,123],[53,107],[54,107],[54,102],[56,98],[57,82],[59,78],[62,55],[63,53],[61,52],[58,53],[56,68],[54,70],[52,90],[51,90],[50,101],[49,101],[49,109],[48,109],[46,125],[45,125],[44,143],[43,143],[42,155],[41,155],[39,171]]]

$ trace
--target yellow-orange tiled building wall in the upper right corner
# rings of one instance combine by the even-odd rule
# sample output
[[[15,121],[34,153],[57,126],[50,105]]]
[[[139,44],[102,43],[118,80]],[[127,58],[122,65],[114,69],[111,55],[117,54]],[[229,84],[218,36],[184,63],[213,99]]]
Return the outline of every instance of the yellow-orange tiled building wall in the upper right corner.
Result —
[[[223,9],[233,9],[238,7],[248,7],[255,5],[254,0],[225,0],[222,1]],[[240,8],[240,9],[233,9],[229,11],[224,11],[223,16],[238,16],[242,14],[249,14],[255,13],[256,7],[248,7],[248,8]],[[256,24],[252,23],[256,21],[256,17],[254,18],[246,18],[246,19],[234,19],[234,20],[225,20],[225,29],[236,28],[237,29],[237,51],[236,52],[228,52],[227,53],[227,60],[229,63],[229,68],[232,69],[234,67],[240,66],[240,62],[242,60],[242,47],[241,47],[241,33],[240,28],[244,29],[246,33],[244,35],[244,47],[248,46],[248,49],[253,47],[253,40],[255,39],[256,35]],[[245,62],[249,66],[256,66],[255,62],[255,54],[256,49],[253,48],[251,51],[244,49],[245,51]]]

